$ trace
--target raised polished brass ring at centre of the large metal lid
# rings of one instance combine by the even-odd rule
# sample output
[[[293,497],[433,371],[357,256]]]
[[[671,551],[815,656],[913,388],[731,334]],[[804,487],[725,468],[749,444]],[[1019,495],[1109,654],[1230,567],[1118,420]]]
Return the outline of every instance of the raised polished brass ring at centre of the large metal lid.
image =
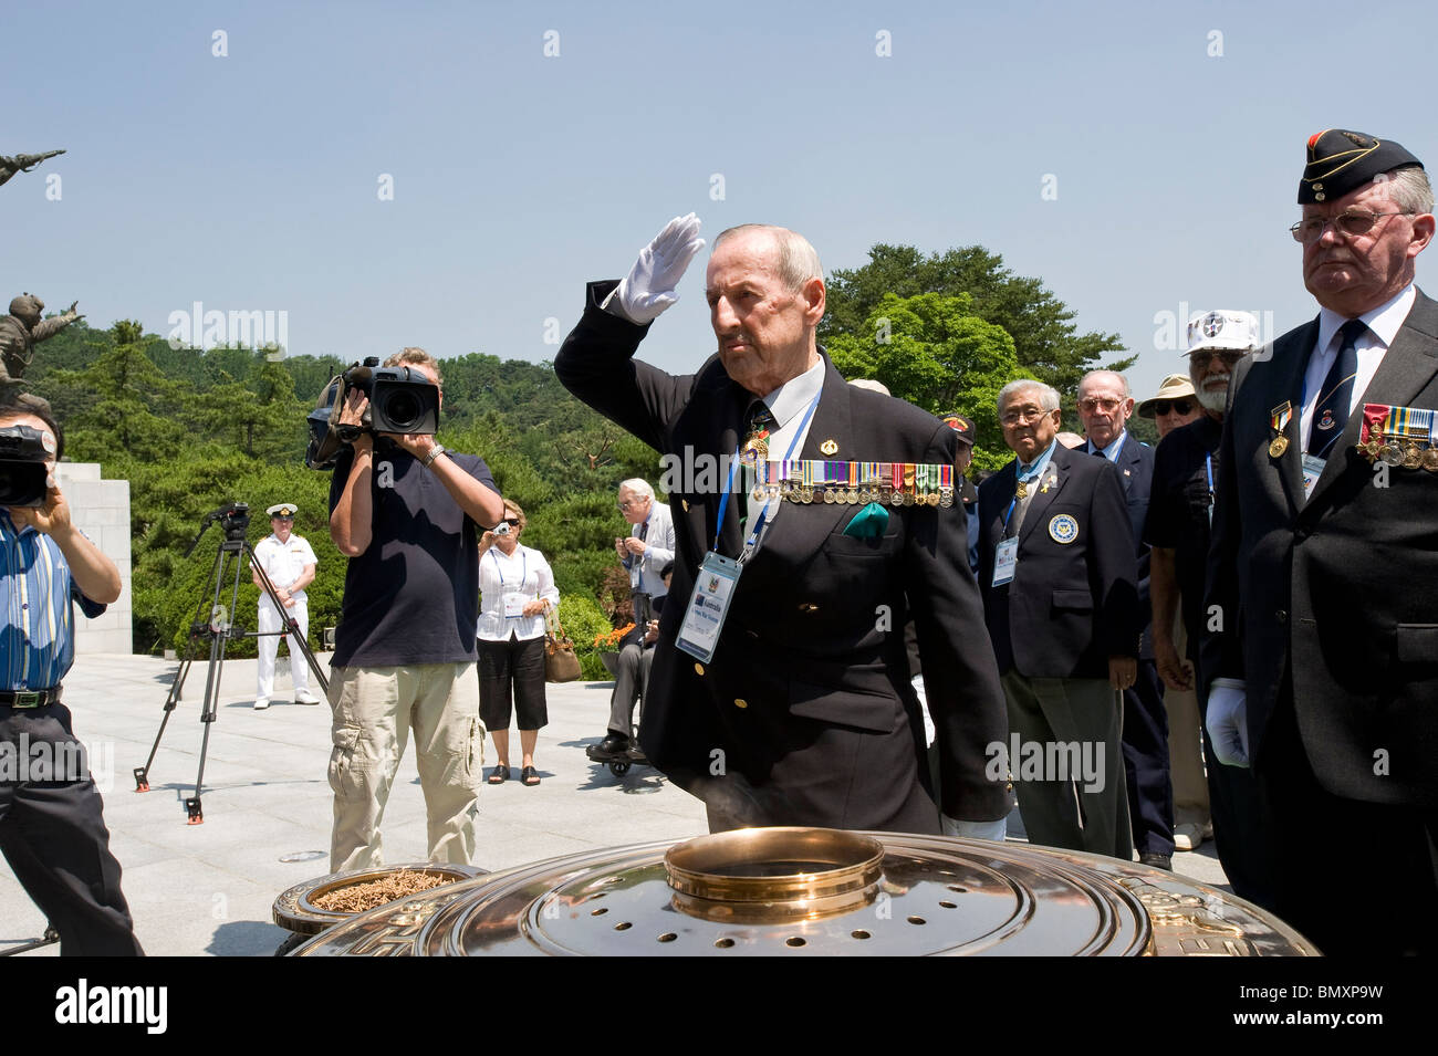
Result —
[[[867,905],[884,846],[837,829],[735,829],[664,853],[673,905],[709,921],[812,920]]]

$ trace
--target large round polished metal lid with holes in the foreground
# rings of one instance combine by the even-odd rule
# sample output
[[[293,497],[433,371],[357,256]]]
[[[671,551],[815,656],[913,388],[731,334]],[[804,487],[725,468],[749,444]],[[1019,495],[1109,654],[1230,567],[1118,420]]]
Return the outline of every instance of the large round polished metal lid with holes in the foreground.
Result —
[[[660,842],[557,858],[421,892],[345,921],[295,955],[372,953],[1114,957],[1314,950],[1242,899],[1112,858],[943,836],[748,829],[674,848]]]

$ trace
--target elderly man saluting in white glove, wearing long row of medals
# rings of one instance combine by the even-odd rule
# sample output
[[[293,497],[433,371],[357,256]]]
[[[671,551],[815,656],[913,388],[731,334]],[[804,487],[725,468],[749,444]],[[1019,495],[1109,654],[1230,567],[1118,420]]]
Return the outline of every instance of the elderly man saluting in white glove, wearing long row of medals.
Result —
[[[912,612],[946,828],[1001,836],[1009,796],[985,749],[1002,743],[1004,705],[966,569],[953,431],[844,382],[815,343],[818,254],[782,227],[716,240],[716,356],[684,376],[636,361],[697,231],[677,218],[623,282],[592,283],[555,359],[580,399],[683,463],[646,754],[706,802],[713,830],[939,832],[903,644]]]

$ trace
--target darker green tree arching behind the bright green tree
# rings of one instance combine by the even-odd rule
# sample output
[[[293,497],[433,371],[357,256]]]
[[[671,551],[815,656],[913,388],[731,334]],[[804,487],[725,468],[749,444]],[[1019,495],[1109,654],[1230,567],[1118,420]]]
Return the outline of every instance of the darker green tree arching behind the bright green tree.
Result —
[[[965,246],[942,256],[925,256],[913,246],[876,244],[869,263],[837,270],[828,282],[828,307],[820,339],[858,335],[884,295],[966,293],[972,315],[1002,326],[1014,339],[1018,365],[1073,398],[1078,379],[1099,366],[1106,353],[1123,352],[1116,333],[1080,333],[1074,312],[1044,289],[1038,279],[1015,276],[1004,259],[982,246]],[[1127,369],[1136,356],[1107,363]]]

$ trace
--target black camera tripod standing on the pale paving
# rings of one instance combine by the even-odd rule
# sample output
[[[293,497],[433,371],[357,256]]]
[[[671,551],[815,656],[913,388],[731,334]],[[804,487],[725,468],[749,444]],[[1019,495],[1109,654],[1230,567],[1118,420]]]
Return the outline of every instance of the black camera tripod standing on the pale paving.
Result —
[[[299,649],[305,654],[305,662],[309,664],[309,670],[315,672],[315,678],[319,681],[319,688],[329,693],[329,680],[325,678],[325,672],[319,670],[319,661],[315,659],[315,654],[309,648],[309,642],[301,634],[299,622],[288,615],[285,603],[279,599],[275,590],[275,585],[270,578],[265,575],[265,569],[260,566],[259,560],[255,557],[255,549],[250,546],[249,540],[244,537],[246,530],[250,524],[249,516],[250,507],[244,503],[226,503],[217,510],[213,510],[204,516],[200,523],[200,534],[194,537],[190,543],[190,549],[186,550],[184,556],[188,557],[194,553],[194,547],[200,545],[200,539],[209,530],[210,524],[216,520],[220,522],[224,530],[224,539],[220,540],[219,552],[214,555],[214,568],[210,570],[210,579],[207,580],[204,595],[200,598],[200,606],[196,609],[194,621],[190,624],[190,639],[186,642],[184,657],[180,659],[180,670],[175,671],[174,682],[170,685],[170,694],[165,697],[165,714],[160,720],[160,731],[155,734],[155,743],[150,749],[150,757],[145,760],[144,766],[135,767],[135,792],[150,792],[150,767],[155,761],[155,753],[160,750],[160,738],[165,736],[165,726],[170,723],[170,715],[174,713],[175,705],[180,703],[180,695],[184,691],[186,675],[190,674],[190,665],[201,652],[203,642],[209,642],[210,664],[206,668],[204,677],[204,703],[200,708],[200,721],[204,724],[204,737],[200,741],[200,770],[194,777],[194,796],[184,800],[186,815],[190,825],[201,825],[204,822],[204,812],[200,805],[200,790],[204,784],[204,759],[206,753],[210,750],[210,724],[217,718],[216,710],[220,703],[220,674],[224,667],[224,647],[232,638],[260,638],[265,632],[256,629],[255,634],[247,634],[244,626],[232,619],[236,612],[236,606],[240,601],[240,576],[244,568],[249,566],[255,576],[260,580],[260,589],[269,596],[270,603],[279,611],[280,618],[285,621],[285,626],[280,631],[275,631],[276,635],[288,634],[290,635],[290,645],[299,642]],[[220,602],[224,585],[232,582],[230,568],[233,566],[233,585],[230,588],[230,603],[226,608]],[[206,613],[206,601],[210,603],[209,613]],[[290,651],[290,665],[295,664],[293,651]]]

